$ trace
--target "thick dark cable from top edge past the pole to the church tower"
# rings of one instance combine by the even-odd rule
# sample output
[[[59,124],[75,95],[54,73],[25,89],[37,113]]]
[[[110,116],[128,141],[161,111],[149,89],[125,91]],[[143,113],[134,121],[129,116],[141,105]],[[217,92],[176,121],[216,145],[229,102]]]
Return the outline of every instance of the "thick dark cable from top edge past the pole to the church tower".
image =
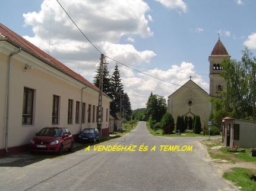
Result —
[[[100,51],[100,50],[90,41],[90,39],[83,33],[83,31],[81,31],[81,29],[78,27],[78,25],[75,24],[75,21],[72,20],[72,18],[69,16],[69,14],[68,14],[68,12],[65,10],[65,8],[62,7],[61,3],[60,3],[58,0],[56,0],[56,1],[57,1],[58,4],[61,6],[61,8],[64,10],[64,12],[68,15],[69,19],[73,22],[73,24],[75,25],[75,27],[77,27],[77,29],[80,31],[80,33],[83,34],[84,37],[86,37],[86,39],[90,42],[90,44],[91,44],[97,51],[99,51],[100,54],[103,54],[102,51]],[[105,57],[108,57],[108,56],[105,56]],[[178,85],[178,84],[176,84],[176,83],[168,82],[167,80],[163,80],[163,79],[160,79],[159,77],[154,77],[154,76],[148,75],[147,73],[141,72],[140,70],[134,69],[134,68],[128,66],[128,64],[121,63],[121,62],[119,62],[119,61],[117,61],[117,60],[115,60],[115,59],[112,59],[112,58],[110,58],[110,57],[108,57],[108,59],[113,60],[113,61],[115,61],[116,63],[122,64],[123,66],[126,66],[126,67],[128,67],[129,69],[135,70],[135,71],[138,72],[138,73],[142,73],[143,75],[152,77],[152,78],[157,79],[157,80],[160,80],[160,81],[162,81],[162,82],[170,83],[170,84],[172,84],[172,85],[180,86],[180,87],[183,86],[183,87],[185,87],[185,88],[190,88],[190,89],[199,89],[199,88],[191,88],[191,87],[187,87],[187,86],[184,86],[184,85]],[[204,90],[204,89],[203,89],[203,90]]]

